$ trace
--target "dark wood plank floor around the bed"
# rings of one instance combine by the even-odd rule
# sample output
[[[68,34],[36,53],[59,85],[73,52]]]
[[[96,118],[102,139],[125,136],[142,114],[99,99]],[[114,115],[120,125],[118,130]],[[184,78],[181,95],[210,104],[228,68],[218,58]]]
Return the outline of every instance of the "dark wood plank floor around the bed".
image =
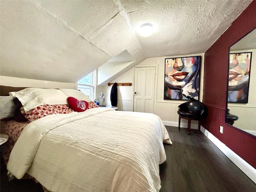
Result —
[[[164,145],[160,192],[256,192],[256,184],[236,167],[204,134],[166,126],[172,145]],[[8,182],[1,171],[1,192],[43,192],[28,180]]]

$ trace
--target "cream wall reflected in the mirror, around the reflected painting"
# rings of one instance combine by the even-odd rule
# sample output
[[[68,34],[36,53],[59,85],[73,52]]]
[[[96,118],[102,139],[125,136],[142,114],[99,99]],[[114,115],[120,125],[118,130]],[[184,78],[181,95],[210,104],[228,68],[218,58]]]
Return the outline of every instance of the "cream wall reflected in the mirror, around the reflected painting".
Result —
[[[230,114],[238,116],[233,126],[243,130],[253,130],[256,133],[256,119],[252,119],[252,114],[256,114],[256,50],[240,50],[234,52],[252,52],[251,69],[250,69],[250,84],[248,103],[228,103]]]

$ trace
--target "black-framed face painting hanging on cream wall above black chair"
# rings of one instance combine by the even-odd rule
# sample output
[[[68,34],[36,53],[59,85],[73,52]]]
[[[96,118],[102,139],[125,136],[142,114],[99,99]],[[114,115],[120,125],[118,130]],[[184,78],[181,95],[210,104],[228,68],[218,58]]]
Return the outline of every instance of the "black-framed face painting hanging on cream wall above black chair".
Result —
[[[201,56],[166,58],[164,99],[198,100]]]

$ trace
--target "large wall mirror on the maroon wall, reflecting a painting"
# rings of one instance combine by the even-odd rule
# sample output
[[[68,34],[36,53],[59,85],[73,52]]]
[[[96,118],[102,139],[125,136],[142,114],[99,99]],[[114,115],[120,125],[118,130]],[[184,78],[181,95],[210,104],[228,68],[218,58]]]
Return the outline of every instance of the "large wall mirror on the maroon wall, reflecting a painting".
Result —
[[[230,123],[226,115],[226,123],[256,136],[256,28],[230,47],[229,56],[226,113],[238,119]]]

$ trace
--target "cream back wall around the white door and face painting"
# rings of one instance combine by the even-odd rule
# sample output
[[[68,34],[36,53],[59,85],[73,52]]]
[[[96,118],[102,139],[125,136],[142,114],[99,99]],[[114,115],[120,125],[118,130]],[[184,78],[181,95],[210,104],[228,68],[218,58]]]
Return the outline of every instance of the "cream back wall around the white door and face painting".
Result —
[[[193,55],[182,55],[182,56],[168,56],[168,57],[158,57],[158,58],[148,58],[138,64],[139,66],[156,66],[156,100],[154,102],[154,114],[160,116],[164,121],[164,124],[170,126],[178,126],[178,106],[186,101],[182,100],[164,100],[164,62],[165,58],[173,57],[186,57],[186,56],[201,56],[201,72],[200,72],[200,97],[199,100],[202,101],[203,96],[203,79],[204,79],[204,54],[193,54]],[[134,67],[134,68],[135,68]],[[132,82],[132,86],[118,86],[118,110],[133,111],[133,90],[134,90],[134,68],[126,72],[125,74],[119,76],[112,83],[129,83]],[[103,92],[106,96],[106,102],[111,105],[110,102],[110,91],[112,86],[104,86]],[[198,122],[192,122],[192,128],[197,128]],[[181,126],[186,127],[187,121],[182,120]]]

